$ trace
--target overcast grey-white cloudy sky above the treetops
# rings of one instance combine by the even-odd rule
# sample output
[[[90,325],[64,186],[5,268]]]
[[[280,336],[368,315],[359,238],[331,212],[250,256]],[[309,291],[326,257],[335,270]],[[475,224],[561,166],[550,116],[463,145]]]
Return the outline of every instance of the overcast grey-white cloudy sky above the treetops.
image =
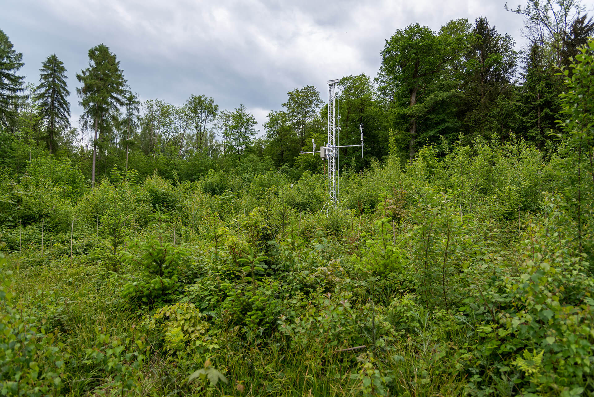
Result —
[[[591,3],[592,0],[589,0]],[[590,4],[587,5],[590,5]],[[247,106],[258,123],[286,93],[365,73],[375,77],[380,51],[397,29],[419,22],[439,30],[448,20],[480,15],[523,44],[522,17],[503,0],[4,0],[0,29],[23,53],[20,73],[37,83],[56,53],[68,69],[72,125],[81,114],[75,74],[99,43],[118,56],[141,100],[181,105],[190,94],[220,109]],[[524,1],[510,1],[510,5]],[[592,9],[592,7],[588,7]],[[260,127],[261,128],[261,127]]]

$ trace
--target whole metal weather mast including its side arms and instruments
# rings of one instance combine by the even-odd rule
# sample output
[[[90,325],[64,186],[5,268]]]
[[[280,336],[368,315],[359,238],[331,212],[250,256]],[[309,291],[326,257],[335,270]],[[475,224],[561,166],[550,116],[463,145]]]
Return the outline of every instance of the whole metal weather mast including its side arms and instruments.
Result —
[[[328,198],[334,206],[338,202],[339,194],[339,179],[337,178],[336,172],[339,169],[338,157],[339,149],[341,147],[358,147],[361,146],[361,158],[363,158],[363,124],[359,124],[359,130],[361,131],[361,144],[358,145],[343,145],[339,146],[338,138],[340,137],[340,127],[337,125],[339,111],[339,102],[337,96],[337,86],[339,80],[328,80],[328,143],[325,146],[320,147],[320,150],[315,150],[315,140],[311,140],[312,151],[311,152],[300,152],[301,154],[307,155],[311,153],[320,153],[320,157],[328,160]],[[338,131],[338,134],[337,134]]]

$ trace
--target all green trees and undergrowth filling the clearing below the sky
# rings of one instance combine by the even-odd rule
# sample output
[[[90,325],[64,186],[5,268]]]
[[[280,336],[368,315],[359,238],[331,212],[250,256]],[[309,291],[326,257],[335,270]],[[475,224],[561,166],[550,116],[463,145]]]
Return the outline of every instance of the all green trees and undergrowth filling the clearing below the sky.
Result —
[[[340,79],[336,206],[314,86],[260,132],[0,30],[0,395],[593,395],[594,20],[508,11]]]

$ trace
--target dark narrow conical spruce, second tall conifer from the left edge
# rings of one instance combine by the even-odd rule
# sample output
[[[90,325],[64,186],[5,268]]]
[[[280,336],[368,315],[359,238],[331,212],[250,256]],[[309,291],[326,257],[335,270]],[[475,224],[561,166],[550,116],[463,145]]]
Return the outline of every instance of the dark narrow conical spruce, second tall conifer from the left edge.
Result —
[[[46,128],[46,139],[49,153],[55,147],[56,137],[60,131],[70,126],[70,103],[64,63],[56,54],[48,56],[39,70],[40,84],[35,89],[35,99],[41,108],[43,123]]]

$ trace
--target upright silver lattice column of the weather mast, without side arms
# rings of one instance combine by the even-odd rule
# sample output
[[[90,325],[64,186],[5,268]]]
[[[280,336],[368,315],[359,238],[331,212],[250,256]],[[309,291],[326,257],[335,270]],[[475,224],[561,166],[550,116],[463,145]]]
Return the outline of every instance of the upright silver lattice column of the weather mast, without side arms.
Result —
[[[328,80],[328,143],[325,155],[328,159],[328,198],[334,204],[338,201],[339,193],[339,181],[336,179],[336,169],[338,168],[337,85],[338,80]]]

